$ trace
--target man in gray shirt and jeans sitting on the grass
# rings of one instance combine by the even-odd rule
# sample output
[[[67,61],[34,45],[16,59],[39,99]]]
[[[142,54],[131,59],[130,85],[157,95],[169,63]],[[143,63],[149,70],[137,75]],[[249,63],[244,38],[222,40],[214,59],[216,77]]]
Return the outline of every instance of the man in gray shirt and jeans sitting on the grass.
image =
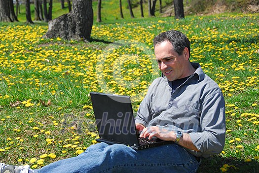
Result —
[[[15,169],[15,173],[195,173],[201,156],[223,149],[222,92],[199,64],[190,63],[190,44],[183,33],[171,30],[157,35],[154,53],[162,77],[153,81],[140,104],[136,128],[141,137],[172,140],[173,144],[134,150],[102,142],[39,170],[0,164],[0,173]]]

